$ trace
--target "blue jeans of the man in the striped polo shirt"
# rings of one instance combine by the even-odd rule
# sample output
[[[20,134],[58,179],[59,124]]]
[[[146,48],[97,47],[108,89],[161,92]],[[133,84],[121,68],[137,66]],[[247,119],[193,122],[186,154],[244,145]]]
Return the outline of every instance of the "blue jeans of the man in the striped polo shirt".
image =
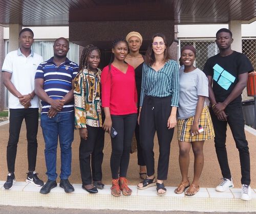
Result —
[[[60,144],[60,179],[68,179],[71,175],[71,144],[74,140],[74,111],[57,113],[49,118],[46,113],[41,114],[41,128],[45,139],[45,159],[49,180],[56,180],[56,157],[58,137]]]

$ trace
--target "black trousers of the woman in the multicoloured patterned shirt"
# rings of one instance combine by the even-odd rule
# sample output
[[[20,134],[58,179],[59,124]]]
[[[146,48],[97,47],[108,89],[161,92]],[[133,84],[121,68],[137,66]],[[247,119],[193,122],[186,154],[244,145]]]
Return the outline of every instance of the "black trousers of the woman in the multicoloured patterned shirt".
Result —
[[[88,137],[81,138],[79,147],[80,172],[83,185],[102,180],[104,130],[101,127],[87,125]],[[91,168],[92,165],[92,168]]]

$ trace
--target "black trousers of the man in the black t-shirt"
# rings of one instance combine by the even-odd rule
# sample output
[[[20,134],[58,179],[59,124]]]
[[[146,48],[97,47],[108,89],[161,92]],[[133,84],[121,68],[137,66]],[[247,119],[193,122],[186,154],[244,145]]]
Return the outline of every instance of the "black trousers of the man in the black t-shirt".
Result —
[[[241,183],[250,184],[250,155],[248,142],[245,138],[244,132],[244,118],[242,106],[240,104],[229,105],[226,107],[225,112],[228,114],[227,121],[219,121],[217,116],[210,108],[212,123],[214,124],[215,131],[215,149],[220,164],[222,176],[224,178],[231,178],[229,170],[227,150],[226,150],[226,131],[227,123],[231,129],[236,147],[239,151],[240,164],[241,164]]]

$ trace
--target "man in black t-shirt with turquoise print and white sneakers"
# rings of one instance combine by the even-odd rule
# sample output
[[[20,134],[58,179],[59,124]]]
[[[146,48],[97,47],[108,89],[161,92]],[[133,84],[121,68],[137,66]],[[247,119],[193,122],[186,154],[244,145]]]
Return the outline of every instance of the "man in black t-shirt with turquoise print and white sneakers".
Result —
[[[216,135],[215,148],[223,176],[223,181],[216,187],[216,191],[224,192],[233,187],[225,145],[228,123],[239,150],[242,172],[241,199],[250,200],[250,156],[244,132],[241,93],[253,67],[244,54],[231,50],[232,41],[231,31],[220,29],[216,33],[220,53],[209,58],[204,66],[204,73],[209,82],[210,113]]]

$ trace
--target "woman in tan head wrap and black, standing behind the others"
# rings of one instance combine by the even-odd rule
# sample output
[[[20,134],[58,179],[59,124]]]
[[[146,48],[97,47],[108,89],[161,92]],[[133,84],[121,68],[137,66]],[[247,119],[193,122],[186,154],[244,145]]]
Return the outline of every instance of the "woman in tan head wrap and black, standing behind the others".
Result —
[[[135,81],[138,93],[138,101],[140,100],[140,91],[141,91],[141,80],[142,80],[142,65],[144,63],[144,56],[139,53],[141,44],[142,44],[142,36],[140,33],[132,31],[126,36],[126,41],[129,45],[130,53],[125,57],[125,62],[132,65],[135,69]],[[139,109],[139,102],[138,102]],[[138,112],[139,113],[139,112]],[[139,135],[139,124],[136,123],[135,128],[135,137],[137,141],[137,157],[138,157],[138,165],[140,166],[140,178],[146,178],[146,164],[142,154],[142,148],[140,145],[140,135]]]

